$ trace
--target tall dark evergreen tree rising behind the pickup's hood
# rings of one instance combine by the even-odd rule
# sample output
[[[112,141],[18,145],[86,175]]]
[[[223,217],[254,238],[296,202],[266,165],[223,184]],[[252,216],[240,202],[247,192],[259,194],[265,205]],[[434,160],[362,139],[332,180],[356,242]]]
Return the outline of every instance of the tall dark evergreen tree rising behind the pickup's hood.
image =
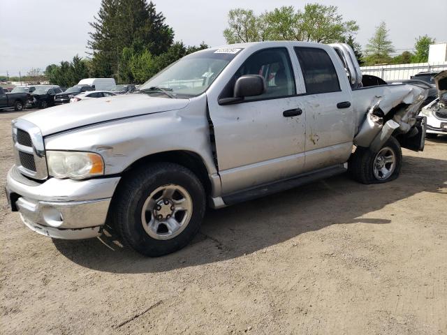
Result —
[[[92,50],[91,77],[117,77],[120,57],[129,61],[131,54],[143,50],[162,54],[168,51],[174,38],[173,29],[165,23],[162,13],[156,13],[152,1],[102,0],[98,16],[90,25],[93,31],[89,33],[87,47]],[[123,55],[124,48],[130,50]],[[131,80],[129,68],[123,68],[122,72],[124,79]]]

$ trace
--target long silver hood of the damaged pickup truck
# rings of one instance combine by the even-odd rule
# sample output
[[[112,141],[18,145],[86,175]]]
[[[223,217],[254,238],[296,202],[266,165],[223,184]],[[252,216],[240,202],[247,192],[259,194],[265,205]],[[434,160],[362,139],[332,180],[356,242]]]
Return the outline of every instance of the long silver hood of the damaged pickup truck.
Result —
[[[148,94],[126,94],[68,103],[24,115],[39,128],[42,135],[50,135],[72,128],[88,126],[123,117],[179,110],[189,104],[187,99],[155,98]]]

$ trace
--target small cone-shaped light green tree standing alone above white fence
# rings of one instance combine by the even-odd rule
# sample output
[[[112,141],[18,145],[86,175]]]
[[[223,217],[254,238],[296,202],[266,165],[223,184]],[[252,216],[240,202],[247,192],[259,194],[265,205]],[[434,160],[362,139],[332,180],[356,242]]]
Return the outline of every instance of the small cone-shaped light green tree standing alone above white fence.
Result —
[[[369,38],[369,43],[366,45],[365,64],[389,64],[393,60],[390,57],[390,53],[394,51],[393,43],[388,39],[386,23],[381,22],[379,27],[376,27],[374,36]]]

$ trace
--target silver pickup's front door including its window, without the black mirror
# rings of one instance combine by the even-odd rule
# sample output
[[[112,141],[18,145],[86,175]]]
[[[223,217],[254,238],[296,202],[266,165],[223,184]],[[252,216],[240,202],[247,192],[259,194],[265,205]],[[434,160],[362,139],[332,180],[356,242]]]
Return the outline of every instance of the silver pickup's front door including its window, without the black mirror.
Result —
[[[296,112],[304,106],[296,96],[288,50],[255,52],[223,93],[233,96],[237,77],[249,74],[265,78],[264,94],[233,105],[209,101],[224,195],[291,177],[304,168],[305,115]]]

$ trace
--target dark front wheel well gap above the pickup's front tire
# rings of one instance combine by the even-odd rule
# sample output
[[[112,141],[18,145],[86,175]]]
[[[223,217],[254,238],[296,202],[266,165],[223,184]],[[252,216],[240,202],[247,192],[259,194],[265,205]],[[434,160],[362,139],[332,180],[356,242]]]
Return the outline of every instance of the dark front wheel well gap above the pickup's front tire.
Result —
[[[203,163],[202,158],[200,158],[198,154],[192,151],[165,151],[145,156],[129,165],[129,167],[124,170],[123,174],[129,174],[131,173],[131,171],[135,170],[135,168],[140,168],[142,165],[159,162],[176,163],[178,165],[184,166],[185,168],[188,168],[194,174],[196,174],[198,179],[200,179],[200,182],[205,188],[205,192],[207,194],[211,193],[212,186],[210,178],[208,177],[208,170],[205,166],[205,163]]]

